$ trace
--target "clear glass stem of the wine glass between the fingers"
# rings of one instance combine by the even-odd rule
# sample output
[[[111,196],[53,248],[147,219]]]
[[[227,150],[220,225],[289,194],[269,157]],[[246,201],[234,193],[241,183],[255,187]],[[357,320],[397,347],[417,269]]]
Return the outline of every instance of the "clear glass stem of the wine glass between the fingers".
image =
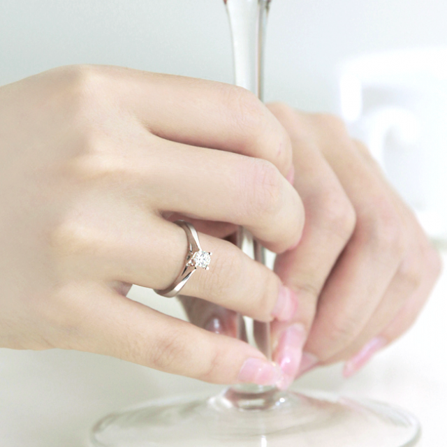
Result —
[[[224,2],[233,40],[235,85],[251,91],[262,101],[265,26],[270,0],[224,0]],[[237,231],[237,247],[265,265],[265,248],[243,227]],[[270,324],[251,321],[251,324],[247,325],[242,316],[239,321],[240,327],[237,333],[240,334],[240,339],[249,340],[269,360],[272,360]],[[251,332],[248,335],[247,330]],[[233,388],[236,393],[245,392],[254,395],[271,389],[272,387],[253,386]]]

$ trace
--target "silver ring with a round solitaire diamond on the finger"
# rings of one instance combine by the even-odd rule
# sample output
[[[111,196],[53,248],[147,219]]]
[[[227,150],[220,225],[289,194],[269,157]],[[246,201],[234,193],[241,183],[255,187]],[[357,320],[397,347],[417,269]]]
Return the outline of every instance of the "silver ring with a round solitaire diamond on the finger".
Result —
[[[173,298],[175,295],[182,290],[182,287],[186,284],[189,278],[191,278],[193,272],[197,270],[198,267],[204,268],[205,270],[210,270],[208,265],[210,264],[212,255],[209,251],[203,251],[200,247],[200,242],[198,241],[198,234],[196,228],[194,228],[192,223],[186,221],[175,221],[179,227],[184,229],[186,233],[186,238],[188,239],[188,252],[186,254],[186,264],[183,271],[179,274],[177,279],[169,287],[163,290],[158,290],[154,288],[154,292],[166,298]]]

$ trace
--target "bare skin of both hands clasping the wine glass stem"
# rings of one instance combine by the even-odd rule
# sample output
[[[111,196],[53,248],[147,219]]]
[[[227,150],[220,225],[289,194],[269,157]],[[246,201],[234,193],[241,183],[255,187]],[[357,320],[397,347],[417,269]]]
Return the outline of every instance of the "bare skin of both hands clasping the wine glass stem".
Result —
[[[413,214],[339,119],[267,108],[244,89],[57,68],[0,88],[0,141],[2,347],[286,388],[303,351],[325,365],[392,342],[439,275]],[[182,270],[176,219],[213,253],[182,289],[193,324],[126,298]],[[274,272],[235,247],[238,225],[279,255]],[[271,322],[281,374],[212,333],[237,335],[235,312]]]

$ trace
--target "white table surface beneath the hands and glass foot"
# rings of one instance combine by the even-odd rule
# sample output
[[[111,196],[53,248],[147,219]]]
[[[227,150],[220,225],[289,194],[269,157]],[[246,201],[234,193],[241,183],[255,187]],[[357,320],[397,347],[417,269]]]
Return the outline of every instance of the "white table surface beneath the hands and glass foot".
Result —
[[[416,325],[352,379],[342,379],[341,365],[334,365],[307,374],[293,388],[397,404],[420,419],[420,446],[446,447],[446,292],[444,273]],[[129,296],[182,316],[175,300],[147,289],[134,286]],[[152,397],[219,389],[89,353],[0,349],[0,446],[85,447],[91,425],[105,413]]]

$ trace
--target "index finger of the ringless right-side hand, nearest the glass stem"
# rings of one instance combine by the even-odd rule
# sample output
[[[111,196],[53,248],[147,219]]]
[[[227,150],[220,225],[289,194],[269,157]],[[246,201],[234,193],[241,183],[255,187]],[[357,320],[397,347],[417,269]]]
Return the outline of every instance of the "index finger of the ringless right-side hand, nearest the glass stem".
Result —
[[[291,136],[297,173],[294,186],[300,193],[306,214],[298,247],[277,256],[274,266],[274,271],[298,298],[298,312],[293,323],[302,325],[298,330],[300,342],[294,342],[300,337],[293,335],[297,330],[289,328],[289,323],[274,321],[271,325],[272,342],[277,345],[274,360],[287,365],[288,377],[292,381],[298,372],[300,362],[297,359],[305,342],[301,334],[306,334],[312,325],[318,296],[351,237],[356,215],[313,135],[307,133],[307,115],[298,114],[279,103],[271,104],[269,108]]]

